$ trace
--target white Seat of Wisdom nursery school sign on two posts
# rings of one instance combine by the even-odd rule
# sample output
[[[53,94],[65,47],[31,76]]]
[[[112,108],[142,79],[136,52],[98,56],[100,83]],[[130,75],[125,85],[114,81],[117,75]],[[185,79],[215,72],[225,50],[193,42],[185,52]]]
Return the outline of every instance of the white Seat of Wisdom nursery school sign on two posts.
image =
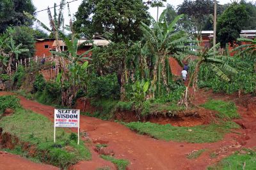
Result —
[[[79,145],[80,110],[54,110],[54,143],[56,142],[56,127],[77,127],[77,145]]]

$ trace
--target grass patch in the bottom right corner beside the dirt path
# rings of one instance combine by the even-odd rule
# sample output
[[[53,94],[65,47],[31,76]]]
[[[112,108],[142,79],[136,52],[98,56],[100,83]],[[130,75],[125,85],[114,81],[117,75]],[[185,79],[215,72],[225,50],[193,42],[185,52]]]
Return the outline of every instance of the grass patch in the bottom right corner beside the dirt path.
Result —
[[[244,153],[246,152],[246,153]],[[218,164],[208,167],[208,170],[230,170],[230,169],[250,169],[255,170],[256,152],[245,149],[243,153],[236,152],[233,155],[221,160]]]

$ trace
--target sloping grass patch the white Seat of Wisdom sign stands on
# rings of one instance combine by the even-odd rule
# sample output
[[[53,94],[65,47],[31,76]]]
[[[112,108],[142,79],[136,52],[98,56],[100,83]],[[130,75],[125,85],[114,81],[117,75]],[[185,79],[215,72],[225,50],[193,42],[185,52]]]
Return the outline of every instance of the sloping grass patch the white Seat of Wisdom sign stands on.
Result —
[[[17,136],[20,141],[35,145],[38,152],[36,159],[54,166],[65,168],[79,160],[90,160],[91,153],[83,145],[77,145],[73,134],[61,128],[56,129],[56,143],[53,142],[53,123],[43,115],[22,108],[16,109],[10,117],[3,117],[0,122],[4,132]]]

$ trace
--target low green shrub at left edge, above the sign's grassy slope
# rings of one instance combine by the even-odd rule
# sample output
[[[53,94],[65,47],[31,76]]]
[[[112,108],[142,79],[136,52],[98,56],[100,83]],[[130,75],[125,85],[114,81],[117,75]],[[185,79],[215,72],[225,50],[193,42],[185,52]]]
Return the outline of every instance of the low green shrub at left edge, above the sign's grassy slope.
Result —
[[[20,107],[20,99],[15,96],[0,96],[0,114],[7,108],[15,110]]]

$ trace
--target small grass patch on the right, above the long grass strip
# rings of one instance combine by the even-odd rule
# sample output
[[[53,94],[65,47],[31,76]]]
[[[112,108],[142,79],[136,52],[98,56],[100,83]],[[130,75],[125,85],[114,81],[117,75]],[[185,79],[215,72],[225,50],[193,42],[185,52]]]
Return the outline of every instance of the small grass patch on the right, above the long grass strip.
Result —
[[[202,104],[201,106],[208,110],[218,111],[219,114],[217,115],[217,117],[219,118],[232,119],[240,117],[239,113],[237,113],[236,104],[234,104],[233,102],[210,100],[207,101],[207,103]]]

